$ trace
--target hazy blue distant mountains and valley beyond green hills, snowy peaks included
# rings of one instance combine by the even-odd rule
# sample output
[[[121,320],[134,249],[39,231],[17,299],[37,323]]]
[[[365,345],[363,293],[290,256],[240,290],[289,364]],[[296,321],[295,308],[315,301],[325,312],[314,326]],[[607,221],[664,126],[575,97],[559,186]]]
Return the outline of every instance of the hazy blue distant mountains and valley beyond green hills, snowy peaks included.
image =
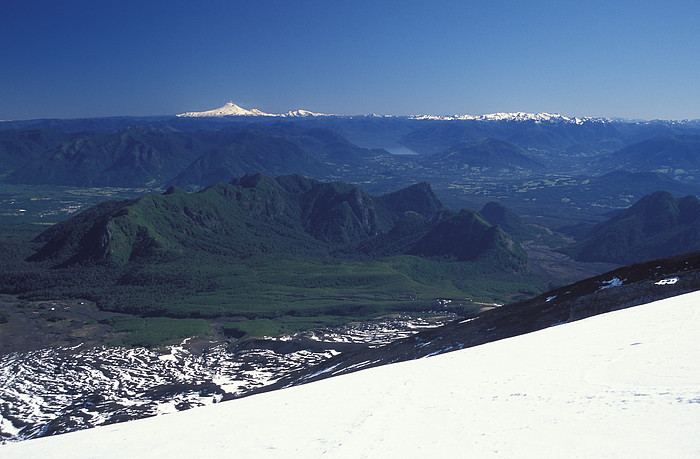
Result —
[[[700,194],[696,121],[265,116],[226,107],[219,115],[244,116],[0,122],[0,184],[190,192],[244,174],[299,174],[380,195],[428,181],[453,210],[499,201],[577,239],[651,192]]]

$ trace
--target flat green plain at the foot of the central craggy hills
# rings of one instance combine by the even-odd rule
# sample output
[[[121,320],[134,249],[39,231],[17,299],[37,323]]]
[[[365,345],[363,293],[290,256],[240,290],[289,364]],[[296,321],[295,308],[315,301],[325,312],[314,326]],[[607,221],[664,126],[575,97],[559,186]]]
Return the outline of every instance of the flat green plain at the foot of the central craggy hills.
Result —
[[[86,298],[100,308],[138,316],[367,316],[428,311],[438,298],[454,312],[472,301],[504,302],[542,287],[516,274],[483,272],[475,263],[414,256],[379,261],[256,256],[244,260],[183,258],[128,268],[38,269],[19,263],[0,289],[28,299]]]

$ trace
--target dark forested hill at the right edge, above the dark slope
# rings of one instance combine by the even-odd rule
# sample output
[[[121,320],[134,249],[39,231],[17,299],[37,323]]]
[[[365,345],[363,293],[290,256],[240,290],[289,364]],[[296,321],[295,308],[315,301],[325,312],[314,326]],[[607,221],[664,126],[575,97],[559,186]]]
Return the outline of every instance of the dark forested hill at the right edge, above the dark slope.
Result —
[[[699,249],[698,199],[658,191],[596,225],[569,253],[579,261],[629,264]]]

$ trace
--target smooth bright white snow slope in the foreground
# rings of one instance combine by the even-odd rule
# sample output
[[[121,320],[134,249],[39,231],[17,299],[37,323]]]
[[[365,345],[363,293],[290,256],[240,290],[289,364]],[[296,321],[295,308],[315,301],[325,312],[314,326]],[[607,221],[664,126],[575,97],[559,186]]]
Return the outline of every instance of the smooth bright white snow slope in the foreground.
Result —
[[[14,457],[698,457],[700,292],[0,447]]]

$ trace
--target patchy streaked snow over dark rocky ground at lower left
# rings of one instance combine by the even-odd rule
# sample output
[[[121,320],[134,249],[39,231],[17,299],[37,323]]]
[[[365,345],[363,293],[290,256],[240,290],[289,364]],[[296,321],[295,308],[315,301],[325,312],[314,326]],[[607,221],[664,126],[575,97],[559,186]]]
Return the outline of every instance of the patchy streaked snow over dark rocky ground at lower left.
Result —
[[[0,423],[1,441],[20,441],[110,423],[118,415],[137,419],[207,405],[224,394],[242,396],[273,384],[300,368],[321,364],[341,352],[276,352],[275,341],[311,338],[379,346],[411,336],[423,328],[453,320],[452,315],[408,315],[317,329],[271,339],[271,349],[229,352],[217,344],[202,354],[186,344],[165,354],[144,348],[72,347],[0,356],[0,416],[21,420],[18,431]],[[376,363],[376,362],[373,362]],[[161,408],[160,405],[165,405]]]

